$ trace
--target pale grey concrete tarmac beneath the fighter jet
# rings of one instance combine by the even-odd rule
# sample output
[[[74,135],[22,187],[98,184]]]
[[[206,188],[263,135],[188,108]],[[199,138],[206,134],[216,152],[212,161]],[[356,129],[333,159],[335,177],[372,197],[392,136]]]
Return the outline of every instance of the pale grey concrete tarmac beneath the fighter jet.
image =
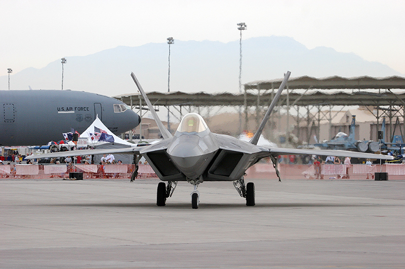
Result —
[[[1,179],[0,267],[405,267],[405,181],[252,181]]]

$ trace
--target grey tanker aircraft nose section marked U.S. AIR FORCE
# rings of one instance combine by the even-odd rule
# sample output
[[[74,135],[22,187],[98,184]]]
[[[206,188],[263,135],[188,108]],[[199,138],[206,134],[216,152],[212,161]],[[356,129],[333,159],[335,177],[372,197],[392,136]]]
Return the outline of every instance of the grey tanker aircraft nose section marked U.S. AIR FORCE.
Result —
[[[86,130],[98,115],[115,134],[141,118],[125,103],[104,95],[71,90],[1,90],[0,145],[43,145],[74,128]]]

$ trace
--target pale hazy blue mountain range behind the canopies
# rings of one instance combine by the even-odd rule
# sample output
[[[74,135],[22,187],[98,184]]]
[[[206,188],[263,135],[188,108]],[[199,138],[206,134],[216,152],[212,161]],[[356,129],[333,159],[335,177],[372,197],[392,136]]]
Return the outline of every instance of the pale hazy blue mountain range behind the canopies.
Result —
[[[239,40],[175,40],[170,53],[170,91],[239,91]],[[118,46],[88,56],[66,56],[64,89],[113,96],[134,93],[134,72],[146,91],[168,90],[167,43]],[[60,89],[60,59],[41,69],[27,68],[10,76],[10,89]],[[242,83],[283,77],[403,76],[387,65],[369,62],[354,53],[329,47],[308,49],[291,37],[269,36],[242,40]],[[8,89],[8,76],[0,77],[0,89]]]

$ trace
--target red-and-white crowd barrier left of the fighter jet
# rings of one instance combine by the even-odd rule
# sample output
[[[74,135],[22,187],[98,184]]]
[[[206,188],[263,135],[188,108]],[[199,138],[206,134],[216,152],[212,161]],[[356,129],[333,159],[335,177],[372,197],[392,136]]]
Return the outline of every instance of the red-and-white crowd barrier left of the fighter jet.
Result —
[[[83,173],[83,178],[131,178],[135,165],[0,165],[0,178],[69,178],[69,173]],[[150,165],[138,166],[138,179],[155,178]]]

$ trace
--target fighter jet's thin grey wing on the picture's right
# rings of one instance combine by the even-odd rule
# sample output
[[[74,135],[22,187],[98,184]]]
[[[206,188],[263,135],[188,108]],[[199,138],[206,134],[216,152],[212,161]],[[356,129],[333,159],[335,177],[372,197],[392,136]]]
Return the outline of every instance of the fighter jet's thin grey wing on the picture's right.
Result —
[[[309,154],[309,155],[322,155],[322,156],[388,159],[388,160],[394,158],[393,156],[389,156],[389,155],[365,153],[365,152],[349,151],[349,150],[336,150],[336,149],[300,149],[300,148],[272,147],[272,148],[269,148],[269,152],[271,155]]]

